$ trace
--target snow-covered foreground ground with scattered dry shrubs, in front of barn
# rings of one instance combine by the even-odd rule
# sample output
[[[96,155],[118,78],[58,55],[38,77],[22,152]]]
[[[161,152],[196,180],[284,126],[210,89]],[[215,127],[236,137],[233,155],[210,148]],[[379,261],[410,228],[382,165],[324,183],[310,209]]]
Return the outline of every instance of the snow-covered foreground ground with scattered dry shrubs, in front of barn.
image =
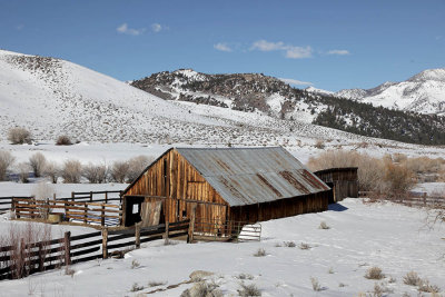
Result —
[[[322,221],[330,229],[319,229]],[[403,281],[411,270],[445,290],[444,226],[429,228],[422,209],[389,202],[366,205],[349,198],[324,212],[265,221],[261,226],[260,242],[165,246],[161,240],[152,241],[125,259],[73,265],[72,277],[52,270],[1,281],[0,296],[137,296],[188,280],[195,270],[214,273],[208,279],[214,279],[227,296],[237,296],[241,281],[255,284],[263,296],[358,296],[373,291],[375,283],[384,283],[394,291],[390,296],[417,296],[416,287]],[[286,247],[284,241],[294,241],[297,247]],[[301,242],[312,248],[300,249]],[[267,256],[255,257],[259,248]],[[140,266],[132,269],[134,260]],[[365,278],[373,266],[382,268],[386,277]],[[240,280],[241,274],[253,279]],[[318,280],[322,291],[313,290],[312,277]],[[166,285],[149,287],[151,281]],[[134,283],[144,290],[130,291]],[[191,286],[184,284],[154,296],[179,296]]]

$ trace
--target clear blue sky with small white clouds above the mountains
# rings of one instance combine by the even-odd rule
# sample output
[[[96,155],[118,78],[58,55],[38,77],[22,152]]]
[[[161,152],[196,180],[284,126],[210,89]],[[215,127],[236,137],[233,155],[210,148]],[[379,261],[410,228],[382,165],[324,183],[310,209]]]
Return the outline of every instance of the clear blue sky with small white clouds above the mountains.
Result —
[[[0,0],[0,49],[119,80],[192,68],[373,88],[445,67],[445,1]]]

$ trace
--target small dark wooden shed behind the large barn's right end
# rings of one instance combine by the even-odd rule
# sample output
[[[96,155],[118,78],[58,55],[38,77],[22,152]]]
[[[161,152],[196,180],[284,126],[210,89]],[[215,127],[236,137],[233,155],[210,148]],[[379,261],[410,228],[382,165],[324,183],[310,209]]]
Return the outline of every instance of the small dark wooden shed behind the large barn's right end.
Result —
[[[326,185],[333,188],[329,204],[338,202],[346,197],[358,197],[357,167],[329,168],[315,171]]]

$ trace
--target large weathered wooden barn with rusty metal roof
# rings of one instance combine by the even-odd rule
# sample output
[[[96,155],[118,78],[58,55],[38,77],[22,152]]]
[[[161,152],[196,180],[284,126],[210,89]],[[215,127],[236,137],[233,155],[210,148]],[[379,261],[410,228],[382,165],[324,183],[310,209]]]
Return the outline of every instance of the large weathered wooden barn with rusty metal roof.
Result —
[[[281,147],[171,148],[123,191],[123,221],[264,221],[326,210],[329,191]]]

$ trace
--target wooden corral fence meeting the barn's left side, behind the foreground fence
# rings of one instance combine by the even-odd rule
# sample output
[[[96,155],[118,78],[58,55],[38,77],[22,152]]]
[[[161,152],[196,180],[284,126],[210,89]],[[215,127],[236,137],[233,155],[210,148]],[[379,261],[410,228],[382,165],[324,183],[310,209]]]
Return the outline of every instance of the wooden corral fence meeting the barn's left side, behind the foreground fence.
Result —
[[[110,204],[13,198],[12,209],[18,219],[48,219],[50,215],[58,215],[67,221],[88,225],[120,226],[122,222],[120,206]]]

